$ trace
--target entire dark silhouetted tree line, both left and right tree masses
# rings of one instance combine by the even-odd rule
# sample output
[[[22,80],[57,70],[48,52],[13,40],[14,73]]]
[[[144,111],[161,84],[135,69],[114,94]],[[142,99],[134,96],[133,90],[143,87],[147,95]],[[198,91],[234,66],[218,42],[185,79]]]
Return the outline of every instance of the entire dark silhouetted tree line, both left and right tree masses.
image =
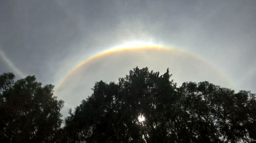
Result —
[[[255,142],[249,91],[171,80],[169,70],[134,68],[117,83],[96,82],[61,128],[62,100],[34,76],[0,75],[0,142]],[[85,95],[86,96],[86,95]]]

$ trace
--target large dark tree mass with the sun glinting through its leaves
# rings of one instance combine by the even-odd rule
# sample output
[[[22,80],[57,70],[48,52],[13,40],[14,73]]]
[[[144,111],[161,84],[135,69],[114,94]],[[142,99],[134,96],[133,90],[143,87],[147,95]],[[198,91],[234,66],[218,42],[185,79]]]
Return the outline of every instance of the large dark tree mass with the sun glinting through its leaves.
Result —
[[[207,81],[184,82],[138,67],[96,82],[65,119],[67,142],[253,142],[256,99]],[[145,118],[145,120],[141,120]]]

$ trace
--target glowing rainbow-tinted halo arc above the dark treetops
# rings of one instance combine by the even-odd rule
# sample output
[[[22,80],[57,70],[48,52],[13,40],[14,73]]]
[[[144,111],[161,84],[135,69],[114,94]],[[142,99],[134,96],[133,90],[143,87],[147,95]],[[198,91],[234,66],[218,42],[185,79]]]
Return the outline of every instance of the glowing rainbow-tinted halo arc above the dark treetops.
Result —
[[[210,66],[212,69],[216,70],[217,73],[222,76],[222,77],[226,77],[227,76],[222,73],[220,70],[218,70],[215,66],[211,65],[210,63],[206,62],[205,60],[203,60],[202,58],[200,58],[199,56],[196,56],[194,54],[191,54],[191,53],[188,53],[184,50],[181,50],[181,49],[175,49],[175,48],[169,48],[167,46],[162,46],[162,45],[155,45],[155,44],[151,44],[151,45],[143,45],[143,44],[137,44],[137,45],[134,45],[134,44],[130,44],[129,45],[121,45],[121,46],[117,46],[117,47],[114,47],[112,49],[108,49],[108,50],[105,50],[105,51],[102,51],[102,52],[99,52],[95,55],[92,55],[90,56],[88,59],[82,61],[80,64],[78,64],[77,66],[75,66],[75,68],[73,68],[72,70],[70,70],[61,80],[60,82],[57,84],[57,87],[55,89],[55,93],[57,93],[57,91],[62,87],[62,85],[66,82],[66,80],[75,72],[77,71],[78,69],[80,69],[82,66],[84,65],[87,65],[88,63],[90,63],[91,61],[94,61],[102,56],[105,56],[105,55],[109,55],[109,54],[113,54],[113,53],[117,53],[119,51],[126,51],[126,50],[136,50],[136,49],[157,49],[157,50],[164,50],[164,51],[182,51],[183,53],[186,53],[188,55],[191,55],[193,58],[201,61],[202,63],[204,63],[205,65],[208,65]],[[228,79],[229,81],[229,84],[232,85],[232,82],[230,82],[230,79]],[[233,87],[233,85],[232,85]]]

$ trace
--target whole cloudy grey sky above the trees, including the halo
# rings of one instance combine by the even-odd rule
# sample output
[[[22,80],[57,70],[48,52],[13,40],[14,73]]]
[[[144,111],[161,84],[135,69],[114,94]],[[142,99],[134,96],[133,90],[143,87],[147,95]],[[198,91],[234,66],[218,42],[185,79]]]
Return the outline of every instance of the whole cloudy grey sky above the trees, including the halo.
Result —
[[[55,85],[64,115],[136,66],[256,93],[255,39],[254,0],[0,0],[0,73]]]

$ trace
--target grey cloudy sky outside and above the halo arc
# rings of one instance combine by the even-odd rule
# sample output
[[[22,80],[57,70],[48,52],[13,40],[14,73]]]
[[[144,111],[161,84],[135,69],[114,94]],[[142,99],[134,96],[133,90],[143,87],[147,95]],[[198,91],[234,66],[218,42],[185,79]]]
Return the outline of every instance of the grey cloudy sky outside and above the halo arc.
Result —
[[[153,41],[200,56],[238,90],[256,93],[255,7],[233,0],[0,1],[0,50],[18,71],[57,84],[93,54]],[[18,74],[3,56],[0,67]]]

